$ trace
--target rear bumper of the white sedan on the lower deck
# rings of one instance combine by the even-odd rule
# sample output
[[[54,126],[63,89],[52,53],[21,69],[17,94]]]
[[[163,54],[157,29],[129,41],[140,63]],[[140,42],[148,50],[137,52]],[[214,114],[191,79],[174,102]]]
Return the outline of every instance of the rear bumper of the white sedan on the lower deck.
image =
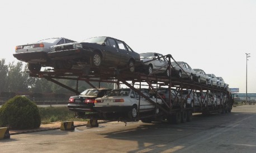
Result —
[[[97,112],[101,113],[120,113],[120,112],[129,112],[131,110],[132,106],[94,106],[93,109],[95,109]]]

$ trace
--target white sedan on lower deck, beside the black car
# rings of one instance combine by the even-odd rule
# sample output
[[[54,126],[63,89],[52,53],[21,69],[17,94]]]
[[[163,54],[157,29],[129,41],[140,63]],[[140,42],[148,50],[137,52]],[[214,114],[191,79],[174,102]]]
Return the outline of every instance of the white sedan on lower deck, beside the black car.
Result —
[[[150,97],[146,90],[141,90],[141,93]],[[150,99],[155,103],[162,104],[160,99]],[[102,98],[96,98],[94,105],[93,108],[97,112],[125,113],[130,119],[135,119],[138,112],[155,111],[155,113],[159,113],[159,108],[156,108],[154,103],[150,103],[142,96],[139,98],[139,94],[129,88],[111,90]]]

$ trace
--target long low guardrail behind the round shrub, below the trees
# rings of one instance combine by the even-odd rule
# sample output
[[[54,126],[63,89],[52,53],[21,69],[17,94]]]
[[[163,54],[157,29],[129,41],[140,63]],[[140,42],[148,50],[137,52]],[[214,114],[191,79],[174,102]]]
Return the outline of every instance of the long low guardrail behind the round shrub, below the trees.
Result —
[[[0,105],[6,103],[10,98],[1,98],[0,97]],[[41,104],[68,104],[68,98],[29,98],[32,102],[35,102],[38,105]]]

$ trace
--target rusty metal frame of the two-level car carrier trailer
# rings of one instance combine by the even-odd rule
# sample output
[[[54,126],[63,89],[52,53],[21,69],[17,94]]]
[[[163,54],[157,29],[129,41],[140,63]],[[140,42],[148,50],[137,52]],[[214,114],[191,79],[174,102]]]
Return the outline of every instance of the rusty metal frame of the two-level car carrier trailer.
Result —
[[[155,104],[155,108],[160,109],[161,113],[154,113],[150,112],[147,114],[140,114],[135,119],[135,121],[138,121],[139,119],[148,121],[146,119],[153,120],[168,120],[171,119],[174,120],[174,122],[186,122],[184,120],[190,121],[192,117],[192,113],[225,113],[230,112],[232,108],[232,101],[231,101],[231,94],[224,88],[220,87],[211,87],[210,85],[197,83],[193,80],[189,79],[182,79],[175,77],[172,75],[174,71],[171,71],[171,59],[175,61],[172,57],[172,55],[168,54],[165,55],[165,57],[168,59],[168,68],[169,68],[169,76],[158,76],[158,75],[146,75],[144,73],[135,72],[130,73],[126,69],[106,69],[106,68],[99,68],[99,69],[93,69],[86,67],[84,69],[71,69],[71,70],[50,70],[50,71],[30,71],[30,76],[32,77],[38,77],[38,78],[45,78],[53,83],[56,83],[60,85],[63,88],[66,88],[75,94],[79,94],[78,92],[78,81],[82,80],[89,85],[91,85],[92,88],[94,85],[91,82],[98,82],[98,88],[100,88],[100,84],[105,83],[116,83],[117,87],[119,87],[120,84],[125,84],[127,87],[133,89],[135,92],[139,93],[139,95],[145,99],[147,99],[150,103]],[[161,57],[160,57],[161,58]],[[157,60],[157,59],[154,59]],[[176,61],[175,61],[176,62]],[[135,65],[136,66],[136,65]],[[182,69],[182,68],[181,68]],[[92,70],[92,71],[91,71]],[[183,69],[182,69],[183,70]],[[184,71],[184,70],[183,70]],[[55,79],[71,79],[71,80],[77,80],[77,88],[73,89],[68,87],[65,84],[62,84],[58,82]],[[141,84],[143,83],[143,84]],[[163,106],[160,106],[159,104],[154,103],[150,98],[146,97],[143,93],[140,92],[138,88],[135,88],[135,85],[139,85],[139,89],[141,87],[147,87],[148,89],[153,90],[159,98],[162,99],[164,102]],[[198,98],[197,95],[195,95],[196,92],[203,92],[205,91],[206,95],[205,98],[208,99],[208,93],[214,93],[220,95],[220,105],[217,107],[210,107],[208,104],[203,106],[202,101],[205,101],[205,98],[202,99],[200,96],[200,106],[195,107],[195,103],[193,101],[193,107],[186,107],[186,104],[184,102],[187,101],[187,98],[184,101],[181,101],[178,103],[178,106],[172,105],[172,102],[165,102],[164,99],[157,93],[157,89],[160,87],[168,87],[169,89],[169,99],[172,99],[172,95],[170,94],[171,88],[176,88],[179,90],[183,89],[189,89],[190,92],[193,90],[193,99]],[[182,93],[181,93],[182,94]],[[182,96],[182,95],[181,95]],[[176,95],[177,97],[177,95]],[[118,121],[131,121],[129,118],[122,118],[122,117],[110,117],[110,118],[104,118],[104,116],[99,116],[98,113],[92,114],[90,116],[87,116],[89,119],[104,119],[104,120],[118,120]]]

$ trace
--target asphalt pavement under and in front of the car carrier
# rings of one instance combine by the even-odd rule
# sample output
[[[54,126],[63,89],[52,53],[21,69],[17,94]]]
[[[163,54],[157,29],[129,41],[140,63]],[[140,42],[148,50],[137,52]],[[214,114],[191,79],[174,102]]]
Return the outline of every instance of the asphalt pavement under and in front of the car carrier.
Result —
[[[0,152],[256,152],[256,105],[192,122],[102,123],[75,131],[50,130],[0,140]]]

